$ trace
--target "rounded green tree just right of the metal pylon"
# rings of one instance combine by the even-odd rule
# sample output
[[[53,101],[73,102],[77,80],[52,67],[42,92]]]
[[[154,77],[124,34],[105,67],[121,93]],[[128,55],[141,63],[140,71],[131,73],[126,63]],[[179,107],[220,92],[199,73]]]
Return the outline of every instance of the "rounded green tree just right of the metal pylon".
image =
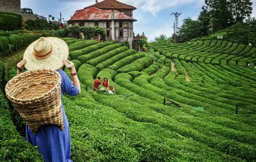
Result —
[[[201,28],[202,26],[198,20],[192,20],[189,17],[184,19],[179,30],[179,42],[186,42],[203,36]]]

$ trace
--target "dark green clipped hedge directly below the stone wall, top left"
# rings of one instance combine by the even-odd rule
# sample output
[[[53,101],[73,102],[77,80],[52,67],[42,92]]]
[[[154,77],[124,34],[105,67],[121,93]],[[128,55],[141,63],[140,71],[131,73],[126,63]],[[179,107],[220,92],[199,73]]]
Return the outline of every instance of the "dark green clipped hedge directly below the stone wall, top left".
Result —
[[[0,31],[14,31],[22,28],[22,18],[17,14],[0,12]]]

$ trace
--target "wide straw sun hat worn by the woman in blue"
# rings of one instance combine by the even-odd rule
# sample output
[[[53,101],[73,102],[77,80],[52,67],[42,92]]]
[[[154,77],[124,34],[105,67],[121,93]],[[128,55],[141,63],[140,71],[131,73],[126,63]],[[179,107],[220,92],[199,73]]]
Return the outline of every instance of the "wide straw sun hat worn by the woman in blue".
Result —
[[[27,60],[25,68],[60,69],[68,59],[69,48],[65,41],[57,37],[41,37],[31,43],[24,52],[23,59]]]

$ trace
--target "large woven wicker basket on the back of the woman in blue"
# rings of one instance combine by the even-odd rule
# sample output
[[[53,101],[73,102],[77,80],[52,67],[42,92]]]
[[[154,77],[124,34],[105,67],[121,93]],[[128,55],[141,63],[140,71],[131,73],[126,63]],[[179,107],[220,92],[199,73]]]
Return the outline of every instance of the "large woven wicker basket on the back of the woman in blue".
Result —
[[[5,91],[34,134],[46,124],[55,124],[63,130],[61,75],[57,71],[24,72],[12,78]]]

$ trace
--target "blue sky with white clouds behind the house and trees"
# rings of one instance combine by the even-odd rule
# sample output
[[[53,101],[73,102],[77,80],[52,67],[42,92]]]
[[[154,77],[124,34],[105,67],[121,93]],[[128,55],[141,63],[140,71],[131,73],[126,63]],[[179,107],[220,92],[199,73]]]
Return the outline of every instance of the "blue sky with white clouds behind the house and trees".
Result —
[[[102,0],[98,0],[101,2]],[[133,11],[135,34],[145,33],[148,40],[155,36],[173,34],[173,23],[175,17],[170,15],[172,12],[181,13],[179,17],[179,26],[182,20],[190,17],[197,19],[204,0],[118,0],[120,2],[132,5],[137,9]],[[254,0],[251,0],[254,2]],[[47,17],[52,15],[60,18],[60,12],[64,20],[69,20],[76,10],[83,9],[95,3],[95,0],[21,0],[21,8],[27,7],[33,10],[33,13]],[[256,1],[253,4],[252,17],[256,17]],[[62,21],[63,22],[63,21]]]

